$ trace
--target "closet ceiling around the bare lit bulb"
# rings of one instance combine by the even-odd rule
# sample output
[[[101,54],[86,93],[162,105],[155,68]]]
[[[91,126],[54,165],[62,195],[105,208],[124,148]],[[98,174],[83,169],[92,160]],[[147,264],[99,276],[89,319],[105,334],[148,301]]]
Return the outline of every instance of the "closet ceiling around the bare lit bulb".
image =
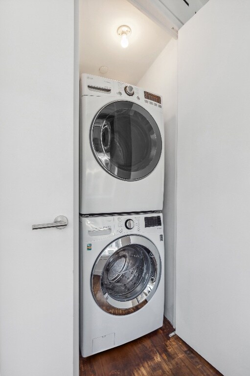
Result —
[[[127,0],[80,0],[80,73],[105,76],[136,85],[171,39]],[[122,48],[117,28],[132,29]],[[109,71],[101,74],[99,68]]]

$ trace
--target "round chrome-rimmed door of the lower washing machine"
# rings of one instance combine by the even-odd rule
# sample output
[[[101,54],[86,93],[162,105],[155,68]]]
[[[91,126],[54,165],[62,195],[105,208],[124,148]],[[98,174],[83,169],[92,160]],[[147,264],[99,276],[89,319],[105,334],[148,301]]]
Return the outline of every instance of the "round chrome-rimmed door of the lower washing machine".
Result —
[[[152,298],[160,274],[156,246],[144,236],[123,236],[109,244],[97,258],[91,275],[92,294],[104,311],[127,315]]]

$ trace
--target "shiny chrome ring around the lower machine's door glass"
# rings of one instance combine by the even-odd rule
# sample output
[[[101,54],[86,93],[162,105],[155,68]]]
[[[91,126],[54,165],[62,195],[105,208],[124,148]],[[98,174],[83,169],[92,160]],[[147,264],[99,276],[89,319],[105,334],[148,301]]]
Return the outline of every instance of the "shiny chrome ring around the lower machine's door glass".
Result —
[[[108,255],[110,258],[111,256],[114,255],[115,252],[120,250],[122,247],[129,246],[129,245],[141,245],[150,251],[152,255],[151,257],[153,258],[156,264],[156,274],[150,277],[147,283],[147,286],[140,293],[140,295],[138,295],[134,299],[127,300],[124,302],[124,301],[115,300],[108,294],[108,292],[105,289],[105,286],[102,283],[102,278],[100,277],[100,269],[103,272],[105,265],[103,265],[102,257],[103,256],[107,257],[108,248],[114,249],[114,252],[111,251],[112,253],[109,253]],[[154,296],[154,293],[156,292],[156,289],[159,285],[160,275],[161,275],[161,261],[160,261],[159,251],[157,247],[155,246],[155,244],[148,238],[141,236],[141,235],[125,235],[125,236],[119,237],[118,239],[110,243],[107,247],[105,247],[105,249],[100,253],[98,258],[96,259],[95,264],[92,269],[92,273],[91,273],[92,295],[96,303],[103,310],[109,313],[113,313],[113,312],[111,312],[110,309],[106,309],[106,307],[103,305],[103,299],[105,299],[105,301],[108,303],[109,306],[117,308],[113,314],[127,314],[126,311],[131,308],[133,308],[133,312],[135,312],[136,310],[141,308],[142,303],[144,306]],[[97,290],[93,288],[93,279],[96,277],[99,278]],[[119,310],[121,310],[122,313],[119,312]]]

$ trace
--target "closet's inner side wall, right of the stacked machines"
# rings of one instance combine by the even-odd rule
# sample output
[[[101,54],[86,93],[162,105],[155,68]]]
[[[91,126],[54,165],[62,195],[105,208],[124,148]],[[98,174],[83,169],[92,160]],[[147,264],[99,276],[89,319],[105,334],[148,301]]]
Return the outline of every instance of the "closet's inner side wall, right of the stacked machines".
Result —
[[[177,47],[171,39],[137,86],[163,96],[165,125],[164,242],[165,309],[175,324],[175,233],[176,233],[176,132],[177,132]]]

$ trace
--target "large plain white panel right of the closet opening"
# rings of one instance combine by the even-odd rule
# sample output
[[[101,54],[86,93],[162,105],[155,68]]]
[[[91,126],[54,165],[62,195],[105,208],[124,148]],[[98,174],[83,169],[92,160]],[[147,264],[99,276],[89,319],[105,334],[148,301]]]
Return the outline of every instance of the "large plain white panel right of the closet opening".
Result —
[[[176,330],[250,375],[250,2],[210,0],[179,31]]]

